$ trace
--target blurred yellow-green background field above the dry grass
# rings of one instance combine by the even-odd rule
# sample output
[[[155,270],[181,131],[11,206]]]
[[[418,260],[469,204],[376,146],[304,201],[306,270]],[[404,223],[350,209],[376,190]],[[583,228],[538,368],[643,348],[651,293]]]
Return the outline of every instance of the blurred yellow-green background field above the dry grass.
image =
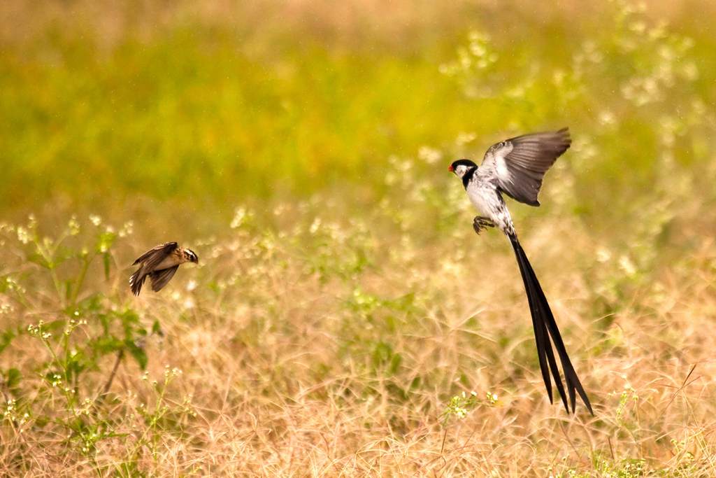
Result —
[[[455,157],[563,125],[569,173],[546,186],[569,186],[562,214],[613,228],[674,188],[710,188],[709,3],[0,8],[0,208],[14,220],[173,206],[211,229],[243,202],[332,188],[373,204],[391,158],[427,155],[415,174],[443,177]],[[687,183],[659,180],[674,175]]]

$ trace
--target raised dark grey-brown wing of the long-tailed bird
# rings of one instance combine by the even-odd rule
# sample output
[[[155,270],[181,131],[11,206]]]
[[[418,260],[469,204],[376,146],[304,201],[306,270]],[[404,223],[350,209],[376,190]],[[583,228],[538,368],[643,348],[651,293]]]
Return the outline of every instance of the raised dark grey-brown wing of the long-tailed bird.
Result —
[[[571,143],[568,128],[510,138],[490,146],[480,169],[491,172],[500,191],[512,199],[539,206],[544,173]]]

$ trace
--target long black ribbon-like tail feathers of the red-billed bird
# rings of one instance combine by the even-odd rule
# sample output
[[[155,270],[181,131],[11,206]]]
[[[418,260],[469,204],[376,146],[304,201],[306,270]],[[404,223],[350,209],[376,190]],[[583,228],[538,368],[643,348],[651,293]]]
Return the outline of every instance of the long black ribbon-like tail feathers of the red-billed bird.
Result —
[[[547,298],[542,292],[542,287],[539,285],[537,276],[527,260],[527,254],[522,249],[520,242],[517,240],[517,236],[510,236],[512,247],[515,249],[515,256],[517,257],[517,263],[520,266],[520,272],[522,274],[522,280],[525,283],[525,291],[527,292],[527,300],[530,304],[530,312],[532,313],[532,325],[535,330],[535,339],[537,341],[537,355],[539,357],[539,366],[542,371],[542,378],[544,384],[547,387],[547,394],[549,396],[550,403],[552,402],[552,384],[549,373],[552,372],[554,383],[557,386],[560,396],[562,397],[562,403],[569,413],[569,406],[567,406],[567,396],[564,393],[564,386],[559,376],[559,370],[557,368],[557,362],[554,359],[554,352],[552,350],[551,343],[554,344],[559,355],[559,360],[562,363],[562,371],[564,372],[564,379],[567,384],[567,391],[569,392],[569,402],[572,406],[572,412],[576,408],[576,393],[579,393],[582,401],[589,408],[589,413],[594,415],[594,411],[591,409],[589,398],[587,398],[582,387],[579,378],[577,377],[574,367],[572,366],[567,350],[564,348],[562,337],[559,334],[557,328],[557,322],[554,320],[552,310],[549,308]],[[551,339],[551,343],[550,343]]]

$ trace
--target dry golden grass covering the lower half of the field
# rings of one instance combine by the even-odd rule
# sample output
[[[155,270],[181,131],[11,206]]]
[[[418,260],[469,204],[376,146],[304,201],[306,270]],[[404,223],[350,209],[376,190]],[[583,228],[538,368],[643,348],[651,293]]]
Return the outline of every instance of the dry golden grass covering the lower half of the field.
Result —
[[[86,415],[105,421],[116,436],[100,439],[85,455],[60,425],[67,408],[57,390],[40,402],[36,397],[33,419],[49,414],[58,422],[5,421],[0,466],[6,474],[716,472],[713,239],[687,237],[698,242],[691,257],[650,272],[638,287],[624,285],[624,303],[599,316],[595,297],[606,283],[599,270],[618,270],[616,258],[598,262],[599,242],[579,222],[546,216],[523,224],[526,250],[594,405],[594,417],[579,405],[570,416],[546,399],[526,299],[499,234],[478,238],[461,215],[460,225],[445,233],[449,241],[430,244],[410,229],[311,216],[282,208],[283,233],[243,216],[221,240],[196,244],[203,265],[180,271],[157,295],[128,297],[126,273],[112,274],[101,286],[103,301],[132,307],[143,322],[161,322],[163,337],[152,335],[144,345],[148,380],[135,362],[122,361],[111,398]],[[420,218],[402,224],[412,221]],[[134,249],[117,249],[118,262],[128,264]],[[372,263],[344,275],[359,251],[368,251]],[[47,320],[57,313],[51,295],[47,290],[21,305],[6,293],[5,302],[19,312],[6,317],[24,317],[21,327]],[[78,330],[91,335],[96,327],[90,321]],[[28,399],[42,396],[34,374],[42,374],[47,350],[26,336],[11,349],[3,368],[22,371]],[[99,371],[87,373],[80,393],[96,393],[113,361],[105,356]],[[173,377],[165,366],[183,373]],[[136,411],[140,403],[153,408],[150,381],[161,383],[163,374],[172,379],[157,403],[174,418],[153,429]],[[474,408],[444,420],[450,398],[472,391]],[[496,394],[496,403],[486,393]],[[150,440],[137,450],[144,437]]]

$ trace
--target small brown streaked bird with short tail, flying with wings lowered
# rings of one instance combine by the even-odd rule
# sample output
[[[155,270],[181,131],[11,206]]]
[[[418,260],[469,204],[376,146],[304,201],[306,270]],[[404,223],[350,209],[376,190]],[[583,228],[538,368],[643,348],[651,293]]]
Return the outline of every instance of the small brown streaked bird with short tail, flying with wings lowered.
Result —
[[[147,276],[152,281],[152,290],[159,292],[185,262],[197,264],[199,258],[191,249],[183,249],[176,242],[165,242],[149,249],[132,264],[139,264],[139,269],[130,276],[132,294],[139,295]]]

